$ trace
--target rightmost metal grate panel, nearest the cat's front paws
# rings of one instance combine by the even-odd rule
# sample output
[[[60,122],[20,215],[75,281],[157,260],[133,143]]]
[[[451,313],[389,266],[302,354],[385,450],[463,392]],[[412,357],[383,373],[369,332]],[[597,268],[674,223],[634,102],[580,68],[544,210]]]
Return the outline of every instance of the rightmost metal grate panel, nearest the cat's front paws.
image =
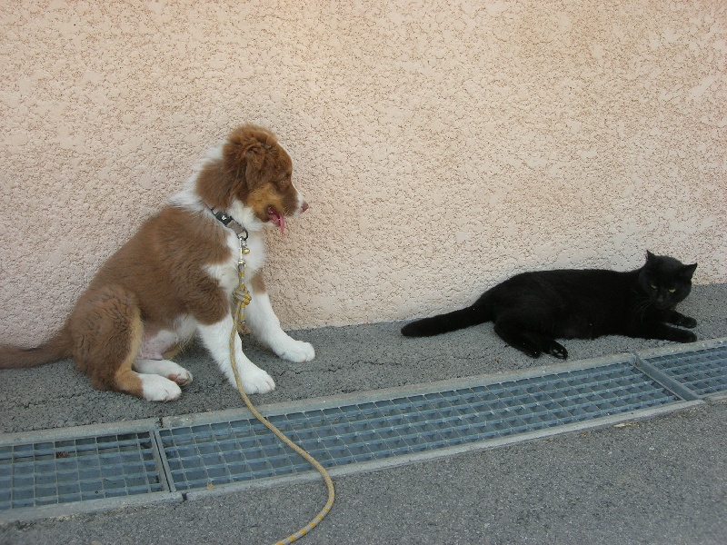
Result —
[[[642,360],[698,396],[727,390],[727,344]]]

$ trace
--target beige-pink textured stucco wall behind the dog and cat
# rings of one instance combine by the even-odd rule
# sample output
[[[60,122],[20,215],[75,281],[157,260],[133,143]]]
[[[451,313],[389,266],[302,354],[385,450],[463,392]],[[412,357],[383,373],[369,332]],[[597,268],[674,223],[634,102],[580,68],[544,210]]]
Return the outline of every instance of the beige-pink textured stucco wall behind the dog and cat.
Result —
[[[727,3],[3,2],[3,340],[55,329],[235,124],[312,209],[270,233],[284,327],[470,302],[525,269],[727,282]]]

